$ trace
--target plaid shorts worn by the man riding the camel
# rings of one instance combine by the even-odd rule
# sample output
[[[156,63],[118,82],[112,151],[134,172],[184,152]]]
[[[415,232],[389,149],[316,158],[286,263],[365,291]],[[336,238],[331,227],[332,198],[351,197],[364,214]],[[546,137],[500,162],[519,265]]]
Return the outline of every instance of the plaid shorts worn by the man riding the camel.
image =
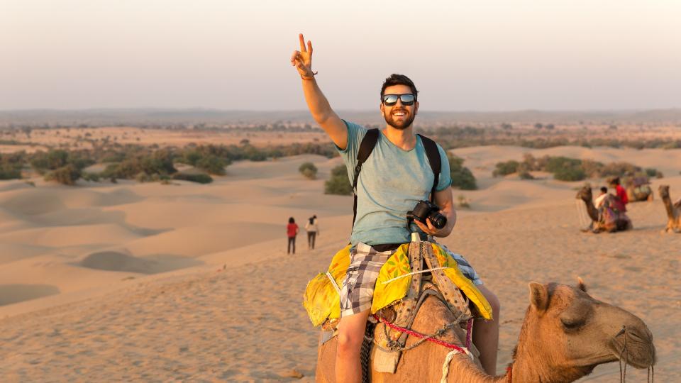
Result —
[[[442,246],[456,261],[461,272],[475,285],[482,279],[462,255]],[[380,252],[366,243],[358,243],[350,249],[350,266],[341,287],[341,317],[350,316],[371,309],[376,279],[383,264],[396,250]]]

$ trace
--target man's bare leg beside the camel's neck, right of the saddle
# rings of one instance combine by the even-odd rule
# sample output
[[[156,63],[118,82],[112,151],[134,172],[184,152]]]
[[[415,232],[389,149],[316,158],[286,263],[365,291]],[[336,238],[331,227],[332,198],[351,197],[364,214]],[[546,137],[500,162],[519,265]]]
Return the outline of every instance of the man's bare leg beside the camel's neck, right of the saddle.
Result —
[[[489,291],[484,284],[477,286],[482,295],[485,296],[489,305],[492,306],[492,321],[479,319],[473,326],[473,343],[480,351],[480,365],[487,374],[495,376],[497,374],[497,349],[499,348],[499,311],[501,305],[499,299],[493,292]]]

